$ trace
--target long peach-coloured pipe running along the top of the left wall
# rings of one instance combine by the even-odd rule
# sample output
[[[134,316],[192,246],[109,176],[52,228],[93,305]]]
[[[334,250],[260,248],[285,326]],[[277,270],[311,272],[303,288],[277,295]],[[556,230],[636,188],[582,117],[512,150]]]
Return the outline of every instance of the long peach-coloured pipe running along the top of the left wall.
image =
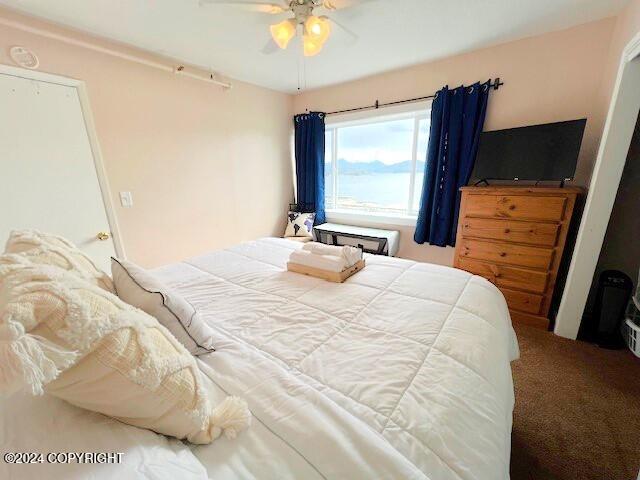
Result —
[[[68,35],[52,32],[46,30],[44,28],[32,27],[23,22],[17,20],[10,20],[7,18],[0,17],[0,25],[4,25],[9,28],[15,28],[17,30],[21,30],[23,32],[32,33],[34,35],[38,35],[40,37],[49,38],[51,40],[57,40],[59,42],[63,42],[69,45],[73,45],[80,48],[86,48],[88,50],[92,50],[94,52],[103,53],[105,55],[110,55],[112,57],[117,57],[122,60],[128,60],[130,62],[139,63],[141,65],[146,65],[147,67],[157,68],[159,70],[164,70],[165,72],[174,73],[176,75],[181,75],[184,77],[193,78],[195,80],[201,80],[207,83],[212,83],[214,85],[218,85],[225,90],[228,90],[232,87],[231,83],[223,82],[215,78],[213,73],[208,73],[207,76],[198,75],[197,73],[187,72],[185,69],[185,65],[177,64],[174,66],[169,66],[161,62],[156,62],[154,60],[149,60],[137,55],[131,55],[128,53],[120,52],[118,50],[103,47],[97,45],[95,43],[86,42],[84,40],[78,40]],[[203,71],[202,68],[199,67],[190,67],[199,71]]]

